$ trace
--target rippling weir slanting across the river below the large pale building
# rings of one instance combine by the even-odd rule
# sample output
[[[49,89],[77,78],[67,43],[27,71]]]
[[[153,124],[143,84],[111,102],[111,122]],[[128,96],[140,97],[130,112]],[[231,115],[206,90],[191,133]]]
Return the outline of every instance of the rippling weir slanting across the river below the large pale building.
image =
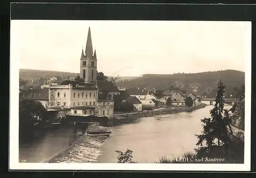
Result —
[[[87,132],[111,132],[111,128],[100,125],[89,125]],[[107,135],[84,134],[58,154],[52,156],[45,163],[88,163],[97,161],[100,147]]]

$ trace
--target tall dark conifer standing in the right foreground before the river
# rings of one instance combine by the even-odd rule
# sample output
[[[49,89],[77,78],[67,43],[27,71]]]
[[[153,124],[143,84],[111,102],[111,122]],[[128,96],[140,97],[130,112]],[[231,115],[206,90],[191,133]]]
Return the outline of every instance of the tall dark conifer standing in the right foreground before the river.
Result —
[[[210,150],[213,146],[227,146],[231,140],[231,119],[228,110],[223,109],[224,88],[225,86],[220,80],[215,99],[216,104],[214,108],[210,110],[211,117],[201,119],[201,122],[203,123],[203,131],[201,135],[196,135],[198,138],[197,145],[201,145],[200,149]],[[206,146],[202,147],[204,141],[206,142]],[[196,149],[196,151],[198,152],[200,149]]]

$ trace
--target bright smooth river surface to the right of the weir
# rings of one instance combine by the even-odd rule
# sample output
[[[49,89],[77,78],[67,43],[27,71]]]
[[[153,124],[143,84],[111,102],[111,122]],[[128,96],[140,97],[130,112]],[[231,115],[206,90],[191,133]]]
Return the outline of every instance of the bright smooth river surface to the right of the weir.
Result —
[[[195,134],[201,134],[202,130],[200,119],[209,117],[212,108],[206,106],[191,112],[142,117],[136,123],[115,126],[101,148],[98,162],[116,163],[115,150],[127,148],[133,150],[134,161],[142,163],[154,163],[162,156],[172,159],[186,151],[194,151]]]

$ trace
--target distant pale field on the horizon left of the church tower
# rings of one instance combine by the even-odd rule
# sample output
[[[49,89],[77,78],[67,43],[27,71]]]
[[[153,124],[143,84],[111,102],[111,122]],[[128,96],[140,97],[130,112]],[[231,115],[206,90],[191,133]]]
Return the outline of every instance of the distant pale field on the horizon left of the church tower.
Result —
[[[71,77],[75,78],[79,73],[60,72],[51,70],[19,69],[19,78],[22,80],[37,80],[47,77]]]

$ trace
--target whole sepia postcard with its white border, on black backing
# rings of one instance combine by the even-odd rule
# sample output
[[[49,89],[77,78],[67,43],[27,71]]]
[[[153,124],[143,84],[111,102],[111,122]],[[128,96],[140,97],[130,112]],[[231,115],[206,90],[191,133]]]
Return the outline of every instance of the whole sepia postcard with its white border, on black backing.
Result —
[[[10,169],[250,169],[251,22],[11,20],[10,34]]]

